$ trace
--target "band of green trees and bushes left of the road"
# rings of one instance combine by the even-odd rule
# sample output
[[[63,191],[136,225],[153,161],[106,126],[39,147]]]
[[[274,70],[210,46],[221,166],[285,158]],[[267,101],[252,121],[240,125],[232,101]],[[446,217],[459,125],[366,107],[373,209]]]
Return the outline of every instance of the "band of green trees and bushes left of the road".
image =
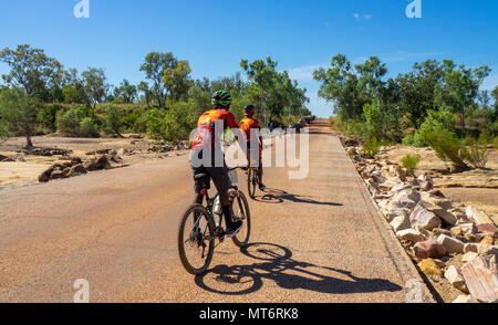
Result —
[[[211,95],[219,90],[232,94],[230,111],[240,119],[243,107],[258,107],[263,123],[284,124],[290,116],[310,115],[307,90],[299,87],[288,72],[278,71],[276,61],[242,60],[243,72],[216,80],[194,80],[187,60],[172,52],[151,52],[138,66],[145,80],[132,84],[123,78],[111,85],[105,70],[64,70],[41,49],[19,45],[3,49],[0,62],[10,71],[0,109],[0,137],[25,136],[29,146],[34,134],[59,132],[73,136],[120,136],[122,132],[147,133],[175,140],[188,135],[199,115],[211,107]],[[243,64],[246,62],[246,65]],[[14,112],[14,107],[19,107]],[[289,117],[289,118],[287,118]]]

